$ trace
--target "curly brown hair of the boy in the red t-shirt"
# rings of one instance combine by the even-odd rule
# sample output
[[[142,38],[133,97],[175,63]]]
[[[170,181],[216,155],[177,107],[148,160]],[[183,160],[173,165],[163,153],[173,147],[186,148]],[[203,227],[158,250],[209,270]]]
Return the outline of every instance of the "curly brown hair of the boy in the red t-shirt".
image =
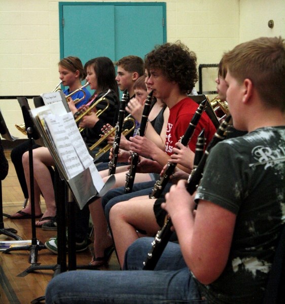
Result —
[[[160,69],[169,81],[179,85],[182,93],[191,91],[198,81],[196,54],[180,41],[156,46],[146,55],[145,68]]]

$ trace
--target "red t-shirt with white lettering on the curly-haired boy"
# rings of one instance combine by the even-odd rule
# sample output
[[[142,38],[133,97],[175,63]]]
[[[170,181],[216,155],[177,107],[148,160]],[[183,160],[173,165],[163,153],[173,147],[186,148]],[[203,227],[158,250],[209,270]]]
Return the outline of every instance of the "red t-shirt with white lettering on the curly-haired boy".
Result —
[[[197,108],[198,104],[190,97],[186,97],[170,109],[165,141],[165,152],[168,155],[172,154],[172,148],[175,147],[175,143],[184,135]],[[215,134],[216,128],[205,112],[202,113],[189,142],[189,148],[193,152],[195,152],[197,137],[202,129],[204,129],[205,132],[205,141],[207,145]]]

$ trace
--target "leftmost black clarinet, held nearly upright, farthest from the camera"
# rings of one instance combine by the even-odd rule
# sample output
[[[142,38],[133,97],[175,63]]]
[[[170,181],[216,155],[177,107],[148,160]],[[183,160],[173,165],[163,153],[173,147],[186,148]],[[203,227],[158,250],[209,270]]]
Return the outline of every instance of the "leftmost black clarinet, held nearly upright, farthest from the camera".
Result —
[[[115,126],[116,133],[115,133],[115,139],[114,139],[114,143],[113,143],[113,158],[109,162],[109,175],[116,173],[120,141],[121,141],[122,129],[123,129],[123,124],[124,124],[125,112],[126,112],[125,107],[126,107],[128,100],[129,100],[129,94],[128,94],[127,90],[125,90],[122,95],[122,100],[121,100],[119,115],[118,115],[118,121]]]

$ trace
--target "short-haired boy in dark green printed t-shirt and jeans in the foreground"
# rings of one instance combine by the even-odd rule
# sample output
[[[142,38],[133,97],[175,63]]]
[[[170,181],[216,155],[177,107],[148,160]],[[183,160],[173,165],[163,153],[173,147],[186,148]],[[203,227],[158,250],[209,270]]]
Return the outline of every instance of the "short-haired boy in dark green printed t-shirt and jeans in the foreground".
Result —
[[[56,276],[47,304],[261,303],[285,221],[285,43],[262,37],[224,60],[233,126],[248,134],[211,149],[195,216],[185,181],[171,187],[162,207],[179,244],[168,243],[154,271],[141,271],[151,248],[151,240],[141,238],[126,253],[124,268],[132,271]]]

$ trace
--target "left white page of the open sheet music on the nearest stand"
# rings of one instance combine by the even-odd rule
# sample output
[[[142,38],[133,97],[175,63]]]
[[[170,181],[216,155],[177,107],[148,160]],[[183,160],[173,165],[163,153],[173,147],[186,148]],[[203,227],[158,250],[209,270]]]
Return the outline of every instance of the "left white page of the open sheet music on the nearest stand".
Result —
[[[63,119],[60,116],[49,114],[44,117],[44,120],[49,128],[59,158],[66,170],[68,179],[73,178],[82,172],[84,168],[78,158],[72,140],[67,134]]]

